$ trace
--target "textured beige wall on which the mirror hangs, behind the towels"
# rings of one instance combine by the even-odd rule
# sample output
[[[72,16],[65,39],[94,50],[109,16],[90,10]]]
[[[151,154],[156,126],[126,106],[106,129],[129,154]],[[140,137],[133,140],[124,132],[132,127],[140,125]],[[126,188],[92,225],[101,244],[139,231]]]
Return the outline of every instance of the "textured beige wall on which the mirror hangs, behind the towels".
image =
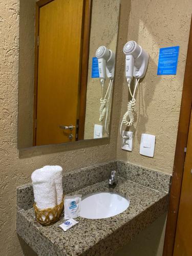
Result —
[[[129,5],[122,1],[118,48],[117,78],[121,81],[122,45],[126,40]],[[0,251],[1,255],[30,255],[22,247],[16,234],[16,187],[30,182],[34,169],[47,164],[59,164],[64,172],[70,172],[91,164],[106,162],[116,156],[116,133],[119,110],[114,108],[111,139],[82,141],[68,145],[46,146],[17,150],[17,95],[18,95],[18,36],[19,0],[0,2]],[[115,88],[114,106],[121,91]]]

